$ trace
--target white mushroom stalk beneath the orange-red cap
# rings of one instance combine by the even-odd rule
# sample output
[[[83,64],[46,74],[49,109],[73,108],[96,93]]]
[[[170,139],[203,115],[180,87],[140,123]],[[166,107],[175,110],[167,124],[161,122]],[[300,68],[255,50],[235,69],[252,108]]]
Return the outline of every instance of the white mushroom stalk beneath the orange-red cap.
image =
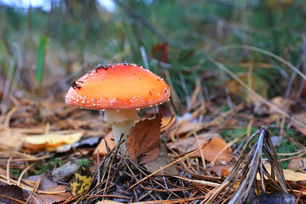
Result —
[[[137,110],[105,110],[104,120],[112,125],[115,144],[117,144],[122,134],[121,141],[126,140],[127,135],[130,135],[132,127],[136,124],[135,121],[139,120],[139,116]],[[125,143],[122,143],[120,148],[125,151]]]

